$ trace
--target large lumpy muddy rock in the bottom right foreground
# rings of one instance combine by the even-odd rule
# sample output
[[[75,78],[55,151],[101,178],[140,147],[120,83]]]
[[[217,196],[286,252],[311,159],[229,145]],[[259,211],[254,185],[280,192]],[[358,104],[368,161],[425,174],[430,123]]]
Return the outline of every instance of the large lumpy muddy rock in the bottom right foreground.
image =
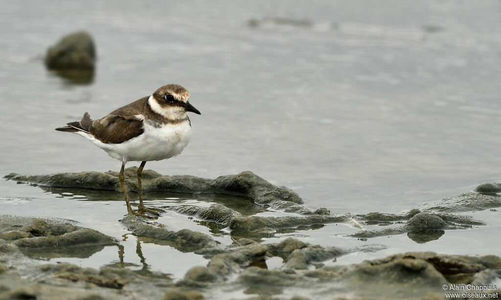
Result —
[[[498,268],[499,257],[495,257],[408,252],[351,265],[296,272],[249,267],[239,274],[237,282],[246,287],[247,293],[269,297],[294,286],[304,288],[303,292],[312,298],[330,298],[333,294],[348,292],[353,299],[443,299],[444,294],[437,291],[437,286],[441,288],[458,279],[467,284],[482,277],[484,283],[491,282],[489,280],[497,273],[484,275],[485,267]],[[264,289],[260,290],[262,287]]]

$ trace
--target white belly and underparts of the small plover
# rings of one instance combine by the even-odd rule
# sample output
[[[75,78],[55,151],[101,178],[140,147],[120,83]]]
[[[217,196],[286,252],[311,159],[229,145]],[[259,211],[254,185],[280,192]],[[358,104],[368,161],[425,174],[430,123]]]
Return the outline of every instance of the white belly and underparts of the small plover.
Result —
[[[121,161],[162,160],[182,152],[191,138],[189,120],[177,124],[154,127],[144,124],[144,132],[119,144],[106,144],[92,135],[77,132],[94,142],[108,154]]]

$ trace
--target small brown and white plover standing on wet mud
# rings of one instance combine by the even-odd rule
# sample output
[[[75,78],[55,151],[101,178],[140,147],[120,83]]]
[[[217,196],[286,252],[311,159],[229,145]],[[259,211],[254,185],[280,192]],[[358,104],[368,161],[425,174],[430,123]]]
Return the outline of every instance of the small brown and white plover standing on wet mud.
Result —
[[[80,122],[70,122],[56,130],[74,132],[89,139],[108,154],[122,161],[118,179],[129,214],[146,216],[152,210],[143,203],[141,172],[146,161],[162,160],[182,152],[191,137],[191,122],[186,112],[200,114],[189,103],[189,92],[178,84],[158,88],[151,96],[143,97],[120,107],[110,114],[93,120],[86,112]],[[127,161],[141,161],[137,169],[139,192],[138,210],[132,210],[125,187],[124,168]]]

